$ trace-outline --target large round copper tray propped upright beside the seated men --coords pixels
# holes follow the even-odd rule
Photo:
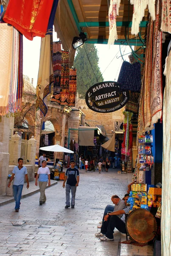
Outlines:
[[[126,229],[129,236],[137,242],[147,243],[154,238],[157,223],[154,216],[145,209],[132,211],[126,220]]]

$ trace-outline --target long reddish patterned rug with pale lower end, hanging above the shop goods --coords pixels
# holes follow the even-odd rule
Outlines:
[[[162,116],[163,87],[162,87],[162,32],[161,23],[161,0],[156,1],[156,20],[153,32],[153,68],[151,80],[151,125],[156,123]]]

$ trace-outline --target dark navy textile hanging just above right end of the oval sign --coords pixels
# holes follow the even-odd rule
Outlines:
[[[121,90],[131,90],[139,92],[141,89],[141,64],[135,62],[130,64],[128,61],[123,61],[121,70],[118,76],[118,83],[121,84]]]

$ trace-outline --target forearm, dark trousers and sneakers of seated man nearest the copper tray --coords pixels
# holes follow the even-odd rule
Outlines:
[[[101,232],[96,233],[95,236],[100,237],[102,241],[113,241],[113,230],[115,227],[121,233],[126,234],[125,213],[129,213],[130,208],[127,207],[123,210],[109,212],[104,216],[104,222],[101,227]],[[122,216],[123,215],[123,216]],[[120,217],[122,216],[122,218]]]

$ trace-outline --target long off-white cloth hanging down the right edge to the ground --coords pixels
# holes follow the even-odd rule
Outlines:
[[[162,242],[165,248],[165,255],[170,254],[170,230],[171,230],[171,205],[168,198],[171,195],[171,51],[165,60],[166,76],[165,90],[163,97],[163,166],[162,166]],[[166,239],[167,238],[167,239]],[[169,244],[169,246],[168,246]]]

